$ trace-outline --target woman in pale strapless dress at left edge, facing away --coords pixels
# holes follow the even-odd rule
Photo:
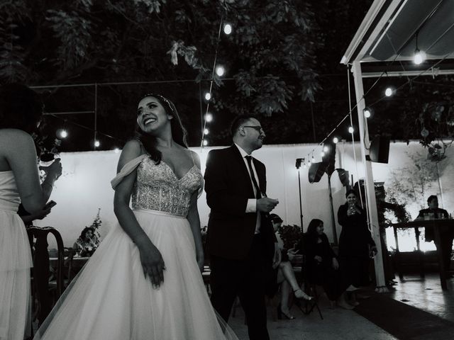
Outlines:
[[[48,166],[40,185],[33,138],[43,114],[38,94],[20,84],[0,88],[0,340],[23,340],[31,331],[31,250],[19,203],[31,214],[43,212],[59,161]]]

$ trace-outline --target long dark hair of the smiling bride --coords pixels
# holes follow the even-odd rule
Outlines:
[[[181,145],[182,147],[188,147],[187,146],[187,131],[182,125],[182,121],[179,119],[179,115],[177,112],[177,108],[175,108],[174,103],[172,101],[168,100],[164,96],[161,96],[160,94],[145,94],[142,98],[140,98],[140,101],[143,98],[147,97],[153,97],[156,98],[157,101],[162,105],[162,107],[165,109],[165,113],[168,115],[172,115],[173,119],[170,120],[170,128],[172,130],[172,139],[174,142],[177,142],[177,144]],[[156,164],[160,164],[161,159],[162,159],[162,154],[161,152],[156,148],[156,138],[152,135],[148,135],[148,133],[143,132],[142,129],[140,129],[140,126],[137,124],[135,128],[135,138],[142,143],[143,147],[145,148],[146,152],[150,154],[151,159]]]

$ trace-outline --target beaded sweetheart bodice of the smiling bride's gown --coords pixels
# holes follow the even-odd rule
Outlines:
[[[202,186],[203,177],[197,166],[192,166],[178,179],[165,162],[155,164],[150,157],[145,157],[137,167],[132,207],[186,217],[192,194]]]

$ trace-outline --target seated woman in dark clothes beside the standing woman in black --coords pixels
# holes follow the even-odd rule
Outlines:
[[[323,232],[323,221],[311,220],[301,250],[306,256],[305,270],[309,282],[323,287],[332,307],[337,302],[340,307],[352,309],[353,306],[345,301],[344,295],[349,283],[339,269],[336,254]]]

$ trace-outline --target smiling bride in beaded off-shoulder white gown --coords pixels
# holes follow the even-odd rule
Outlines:
[[[35,339],[237,339],[218,322],[201,278],[203,178],[177,110],[146,95],[137,123],[138,138],[126,143],[111,181],[119,224]]]

